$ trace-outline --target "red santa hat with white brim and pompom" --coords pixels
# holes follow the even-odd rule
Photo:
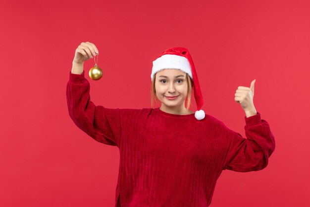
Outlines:
[[[180,69],[183,72],[189,74],[193,80],[194,96],[197,104],[197,111],[195,112],[195,118],[202,120],[205,118],[205,112],[201,109],[204,100],[200,90],[198,76],[194,66],[194,62],[190,55],[190,52],[186,48],[175,47],[170,48],[162,52],[155,61],[153,61],[153,68],[151,73],[151,80],[153,81],[156,72],[162,69]]]

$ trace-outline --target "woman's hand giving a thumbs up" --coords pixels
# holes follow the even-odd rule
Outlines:
[[[256,79],[252,80],[250,87],[238,86],[235,93],[235,101],[240,103],[245,112],[252,112],[252,114],[257,113],[253,103],[255,81]]]

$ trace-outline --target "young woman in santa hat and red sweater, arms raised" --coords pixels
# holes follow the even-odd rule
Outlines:
[[[208,207],[223,170],[267,166],[275,139],[254,107],[254,81],[235,94],[246,113],[243,138],[201,110],[198,76],[186,48],[170,48],[153,61],[152,108],[143,109],[110,109],[91,101],[83,63],[96,55],[93,43],[78,46],[66,95],[76,126],[119,148],[115,207]],[[192,89],[196,112],[189,110]],[[154,98],[160,108],[153,108]]]

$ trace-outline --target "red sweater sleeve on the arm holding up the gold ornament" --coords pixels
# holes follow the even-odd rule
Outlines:
[[[69,72],[66,97],[69,116],[75,125],[95,140],[117,146],[120,120],[119,109],[96,106],[90,98],[90,83],[81,74]]]

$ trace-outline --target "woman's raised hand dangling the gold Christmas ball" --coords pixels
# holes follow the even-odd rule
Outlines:
[[[83,64],[84,61],[99,55],[99,51],[95,44],[91,42],[82,42],[75,50],[73,64]]]

